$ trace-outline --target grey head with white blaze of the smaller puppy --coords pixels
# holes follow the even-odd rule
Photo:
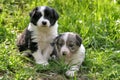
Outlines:
[[[78,34],[66,32],[56,37],[54,42],[57,53],[60,57],[71,57],[78,51],[81,46],[82,39]]]

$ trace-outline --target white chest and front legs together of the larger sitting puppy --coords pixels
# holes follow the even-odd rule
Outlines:
[[[53,51],[53,47],[50,43],[58,35],[57,27],[57,22],[51,27],[39,27],[34,26],[32,23],[29,24],[28,30],[32,32],[32,42],[36,42],[38,44],[37,51],[32,54],[37,64],[48,64],[48,59]]]

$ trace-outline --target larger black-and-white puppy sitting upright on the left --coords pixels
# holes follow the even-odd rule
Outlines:
[[[58,35],[58,13],[50,7],[40,6],[30,12],[30,23],[17,40],[19,51],[30,50],[37,64],[47,65]]]

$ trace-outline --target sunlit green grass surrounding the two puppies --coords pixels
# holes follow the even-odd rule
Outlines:
[[[115,2],[116,1],[116,2]],[[83,38],[86,58],[74,78],[67,66],[50,61],[36,65],[16,49],[16,36],[29,23],[29,12],[47,5],[59,13],[59,33],[76,32]],[[2,80],[120,80],[119,0],[0,0],[0,79]]]

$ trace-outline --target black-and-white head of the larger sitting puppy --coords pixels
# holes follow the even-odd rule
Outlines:
[[[51,27],[58,18],[58,13],[47,6],[36,7],[30,12],[30,22],[38,27]]]

